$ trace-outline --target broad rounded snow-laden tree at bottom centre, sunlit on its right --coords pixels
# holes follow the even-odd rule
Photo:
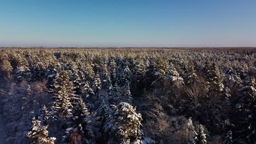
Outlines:
[[[113,112],[107,117],[104,131],[109,135],[108,143],[132,143],[141,139],[140,113],[128,103],[112,105]]]

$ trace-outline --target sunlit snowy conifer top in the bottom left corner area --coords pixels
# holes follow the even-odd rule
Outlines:
[[[31,131],[27,133],[27,137],[32,144],[54,144],[55,137],[48,136],[48,125],[41,126],[40,121],[33,117]]]

